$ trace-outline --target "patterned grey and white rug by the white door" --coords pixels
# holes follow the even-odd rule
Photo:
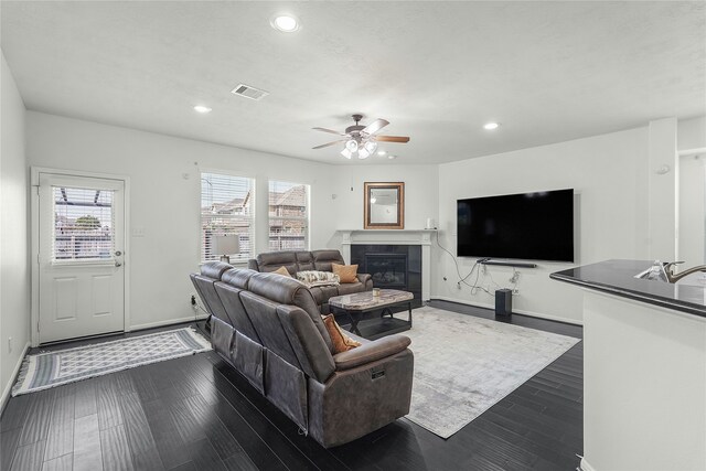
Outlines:
[[[12,396],[212,350],[192,328],[28,355]]]

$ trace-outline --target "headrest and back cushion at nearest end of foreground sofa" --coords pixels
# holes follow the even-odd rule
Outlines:
[[[319,314],[319,306],[309,288],[293,278],[285,278],[281,275],[255,274],[250,277],[248,289],[279,304],[293,304],[303,309],[313,321],[329,351],[333,353],[331,336],[323,325],[321,314]]]

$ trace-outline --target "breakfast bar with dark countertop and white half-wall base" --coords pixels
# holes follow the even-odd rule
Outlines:
[[[706,286],[652,264],[550,275],[584,290],[584,470],[706,470]]]

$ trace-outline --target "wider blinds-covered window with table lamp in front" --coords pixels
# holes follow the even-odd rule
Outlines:
[[[255,181],[222,173],[201,174],[201,261],[228,255],[231,264],[253,258]],[[218,254],[220,236],[237,237],[237,254]]]

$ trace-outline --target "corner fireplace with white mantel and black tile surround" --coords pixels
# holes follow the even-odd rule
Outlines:
[[[375,287],[415,295],[415,307],[430,298],[434,231],[341,231],[343,258],[374,275]],[[373,274],[373,271],[375,274]]]

